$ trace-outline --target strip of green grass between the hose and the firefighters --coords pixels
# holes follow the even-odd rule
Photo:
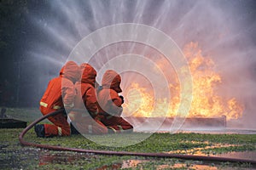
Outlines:
[[[108,134],[95,135],[94,140],[104,143],[124,143],[129,139],[139,139],[143,133],[131,134]],[[124,150],[137,152],[164,152],[175,150],[190,150],[193,148],[204,148],[212,144],[241,144],[241,146],[225,147],[223,152],[234,151],[234,149],[255,150],[256,135],[252,134],[199,134],[199,133],[154,133],[148,139],[143,140],[138,144],[132,144],[125,147],[110,147],[102,144],[97,144],[90,139],[85,139],[82,135],[61,138],[40,139],[33,132],[26,135],[26,140],[36,142],[38,144],[53,144],[65,147],[90,149],[90,150]],[[195,143],[196,142],[196,143]],[[207,143],[208,144],[207,144]],[[124,144],[127,145],[127,144]],[[207,149],[206,149],[207,150]],[[219,151],[211,149],[212,151]]]

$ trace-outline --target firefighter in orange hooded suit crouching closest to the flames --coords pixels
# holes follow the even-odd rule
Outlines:
[[[113,70],[108,70],[102,77],[102,89],[97,93],[99,119],[114,133],[132,132],[133,127],[121,117],[124,103],[120,88],[121,77]]]

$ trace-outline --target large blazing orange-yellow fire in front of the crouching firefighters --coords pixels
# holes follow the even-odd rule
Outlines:
[[[190,42],[183,48],[183,54],[189,62],[193,77],[193,99],[188,117],[226,116],[227,120],[241,117],[243,106],[235,98],[227,99],[215,90],[222,83],[221,76],[213,70],[214,62],[202,56],[198,43]],[[162,69],[162,63],[159,63]],[[174,78],[177,79],[177,78]],[[170,83],[172,93],[170,102],[167,99],[154,99],[153,94],[140,87],[139,83],[131,83],[125,94],[124,113],[126,116],[176,116],[180,104],[180,84],[177,80]],[[155,105],[155,103],[157,105]],[[167,112],[164,111],[167,108]]]

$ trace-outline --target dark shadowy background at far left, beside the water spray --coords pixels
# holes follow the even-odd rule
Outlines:
[[[40,70],[38,66],[44,67],[44,63],[29,59],[26,49],[32,48],[35,41],[47,40],[28,16],[38,15],[44,19],[50,14],[48,1],[0,1],[0,106],[38,106],[44,93],[44,89],[39,88],[42,86],[38,86],[42,78],[44,80],[40,74],[44,69]],[[59,68],[48,66],[48,72],[55,71],[57,76]],[[44,88],[47,81],[43,82]]]

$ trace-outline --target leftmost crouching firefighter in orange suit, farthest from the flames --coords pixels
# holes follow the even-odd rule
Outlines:
[[[74,83],[80,78],[79,65],[73,61],[68,61],[61,68],[60,76],[52,79],[40,100],[40,111],[43,115],[57,111],[65,107],[66,111],[73,108],[73,99],[75,96]],[[48,117],[53,124],[38,124],[35,126],[35,132],[38,137],[68,136],[70,135],[70,126],[67,122],[65,111]]]

